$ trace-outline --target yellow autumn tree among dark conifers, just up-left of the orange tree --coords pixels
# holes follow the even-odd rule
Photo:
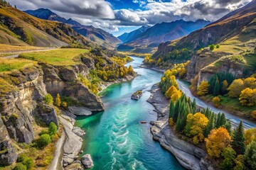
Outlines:
[[[203,141],[203,130],[208,125],[208,118],[202,113],[192,114],[189,113],[186,120],[186,135],[193,137],[193,143],[197,145]]]

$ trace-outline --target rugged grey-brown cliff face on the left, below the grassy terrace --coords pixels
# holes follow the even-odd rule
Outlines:
[[[38,63],[19,71],[0,74],[0,164],[16,162],[17,153],[14,143],[31,143],[35,132],[35,123],[58,125],[58,115],[53,106],[43,103],[50,93],[69,96],[91,111],[102,111],[99,97],[92,94],[86,86],[76,81],[78,74],[86,75],[89,69],[82,62],[70,67],[55,67]]]

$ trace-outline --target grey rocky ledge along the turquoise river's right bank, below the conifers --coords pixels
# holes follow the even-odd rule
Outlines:
[[[151,121],[151,133],[153,139],[160,142],[160,145],[169,150],[178,162],[186,169],[213,170],[210,163],[206,161],[206,152],[194,145],[178,139],[168,123],[169,101],[166,100],[159,89],[154,85],[151,89],[151,97],[147,100],[151,103],[157,113],[157,120]]]

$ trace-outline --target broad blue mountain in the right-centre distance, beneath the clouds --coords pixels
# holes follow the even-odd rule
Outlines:
[[[204,20],[198,20],[196,22],[178,20],[171,23],[157,23],[155,26],[147,28],[144,31],[135,30],[135,33],[141,32],[137,34],[135,38],[133,34],[131,34],[131,38],[129,35],[122,35],[123,37],[121,39],[127,40],[127,42],[119,45],[117,49],[151,52],[151,50],[157,47],[161,42],[181,38],[194,30],[203,28],[209,23],[209,21]]]

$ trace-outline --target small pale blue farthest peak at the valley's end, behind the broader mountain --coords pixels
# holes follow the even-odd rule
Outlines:
[[[130,42],[132,40],[135,40],[136,38],[139,38],[139,35],[144,33],[150,26],[142,26],[141,28],[132,31],[131,33],[124,33],[120,35],[118,38],[122,42]]]

